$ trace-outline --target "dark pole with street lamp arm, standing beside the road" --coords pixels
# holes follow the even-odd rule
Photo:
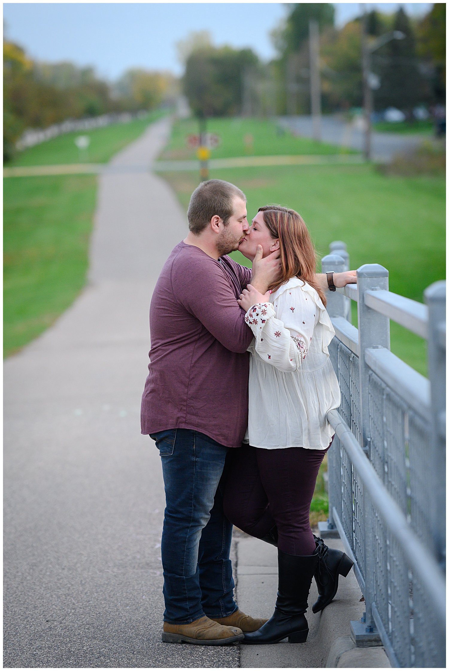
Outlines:
[[[405,34],[401,30],[391,30],[369,44],[367,39],[368,15],[363,5],[362,21],[362,67],[363,67],[363,109],[365,111],[365,148],[363,154],[367,161],[371,160],[371,113],[373,112],[373,90],[379,89],[380,81],[371,72],[371,54],[391,40],[403,40]]]

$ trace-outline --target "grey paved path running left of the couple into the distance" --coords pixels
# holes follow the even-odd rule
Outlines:
[[[237,646],[160,641],[159,455],[140,435],[148,307],[184,238],[184,212],[151,163],[167,120],[99,180],[88,286],[5,361],[5,667],[239,666]]]

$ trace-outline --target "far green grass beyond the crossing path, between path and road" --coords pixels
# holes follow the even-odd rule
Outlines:
[[[283,131],[273,121],[264,119],[208,119],[207,130],[221,138],[221,144],[212,150],[212,158],[235,156],[277,156],[291,154],[338,154],[340,148],[299,138]],[[186,138],[198,134],[195,119],[183,119],[174,125],[172,138],[159,158],[164,160],[192,159],[196,150],[186,146]],[[245,146],[245,136],[253,136],[253,146]],[[344,150],[348,153],[348,150]],[[350,153],[353,153],[352,150]]]

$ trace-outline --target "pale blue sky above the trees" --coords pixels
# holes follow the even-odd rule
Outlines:
[[[422,15],[432,3],[402,3]],[[335,3],[339,25],[360,3]],[[393,12],[398,3],[369,3]],[[108,79],[133,66],[182,72],[175,44],[192,30],[208,30],[215,44],[250,46],[275,56],[269,32],[285,16],[283,3],[5,3],[7,38],[37,60],[92,65]]]

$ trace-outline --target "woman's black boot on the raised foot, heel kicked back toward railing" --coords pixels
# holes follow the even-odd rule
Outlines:
[[[334,599],[338,590],[338,576],[346,578],[354,562],[342,550],[328,548],[322,538],[314,535],[314,539],[319,562],[314,573],[318,599],[312,606],[312,613],[318,613]],[[277,548],[277,527],[272,527],[261,540]]]

